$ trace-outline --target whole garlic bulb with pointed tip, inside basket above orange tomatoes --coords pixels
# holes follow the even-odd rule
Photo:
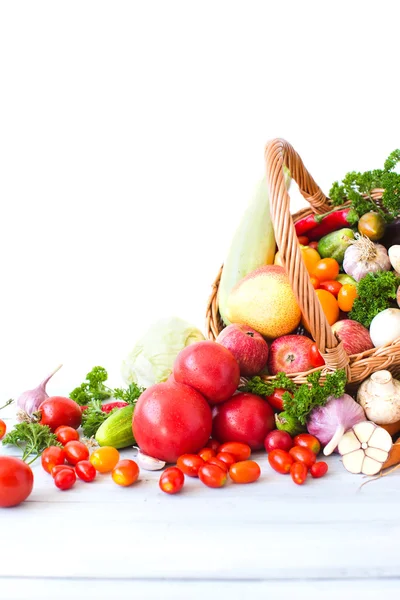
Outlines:
[[[387,250],[382,244],[374,244],[365,235],[356,234],[356,240],[349,242],[344,253],[343,269],[356,281],[367,273],[390,271],[392,265]]]

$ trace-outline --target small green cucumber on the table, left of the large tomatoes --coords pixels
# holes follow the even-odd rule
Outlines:
[[[97,430],[95,440],[100,446],[127,448],[134,446],[135,438],[132,433],[132,417],[134,406],[120,408],[110,415]]]

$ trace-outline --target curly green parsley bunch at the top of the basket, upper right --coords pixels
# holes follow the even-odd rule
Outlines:
[[[383,169],[347,173],[342,182],[336,181],[329,192],[332,204],[341,205],[348,200],[361,217],[367,212],[379,212],[387,221],[393,221],[400,213],[400,174],[393,169],[400,162],[400,150],[394,150],[386,159]],[[383,188],[381,210],[371,198],[374,188]],[[364,197],[364,195],[366,197]]]

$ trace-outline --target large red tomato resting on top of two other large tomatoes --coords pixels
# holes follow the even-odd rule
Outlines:
[[[174,378],[200,392],[210,404],[218,404],[236,392],[240,368],[233,354],[221,344],[196,342],[178,354]]]

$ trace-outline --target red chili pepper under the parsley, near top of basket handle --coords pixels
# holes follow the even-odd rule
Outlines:
[[[319,240],[324,235],[341,227],[355,225],[358,214],[352,208],[335,208],[324,215],[308,215],[295,223],[297,235],[307,233],[309,240]]]

